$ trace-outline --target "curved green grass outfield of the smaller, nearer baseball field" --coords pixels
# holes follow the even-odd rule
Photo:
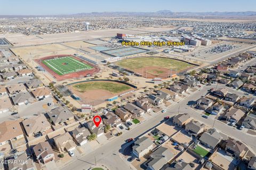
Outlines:
[[[107,81],[94,81],[79,83],[73,86],[79,92],[85,92],[88,90],[107,90],[113,94],[131,89],[130,86],[122,83],[107,82]]]

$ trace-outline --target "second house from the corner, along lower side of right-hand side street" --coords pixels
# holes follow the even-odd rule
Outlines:
[[[198,121],[191,120],[189,123],[186,124],[185,130],[188,132],[189,135],[197,137],[198,134],[204,131],[205,124],[202,124]]]

